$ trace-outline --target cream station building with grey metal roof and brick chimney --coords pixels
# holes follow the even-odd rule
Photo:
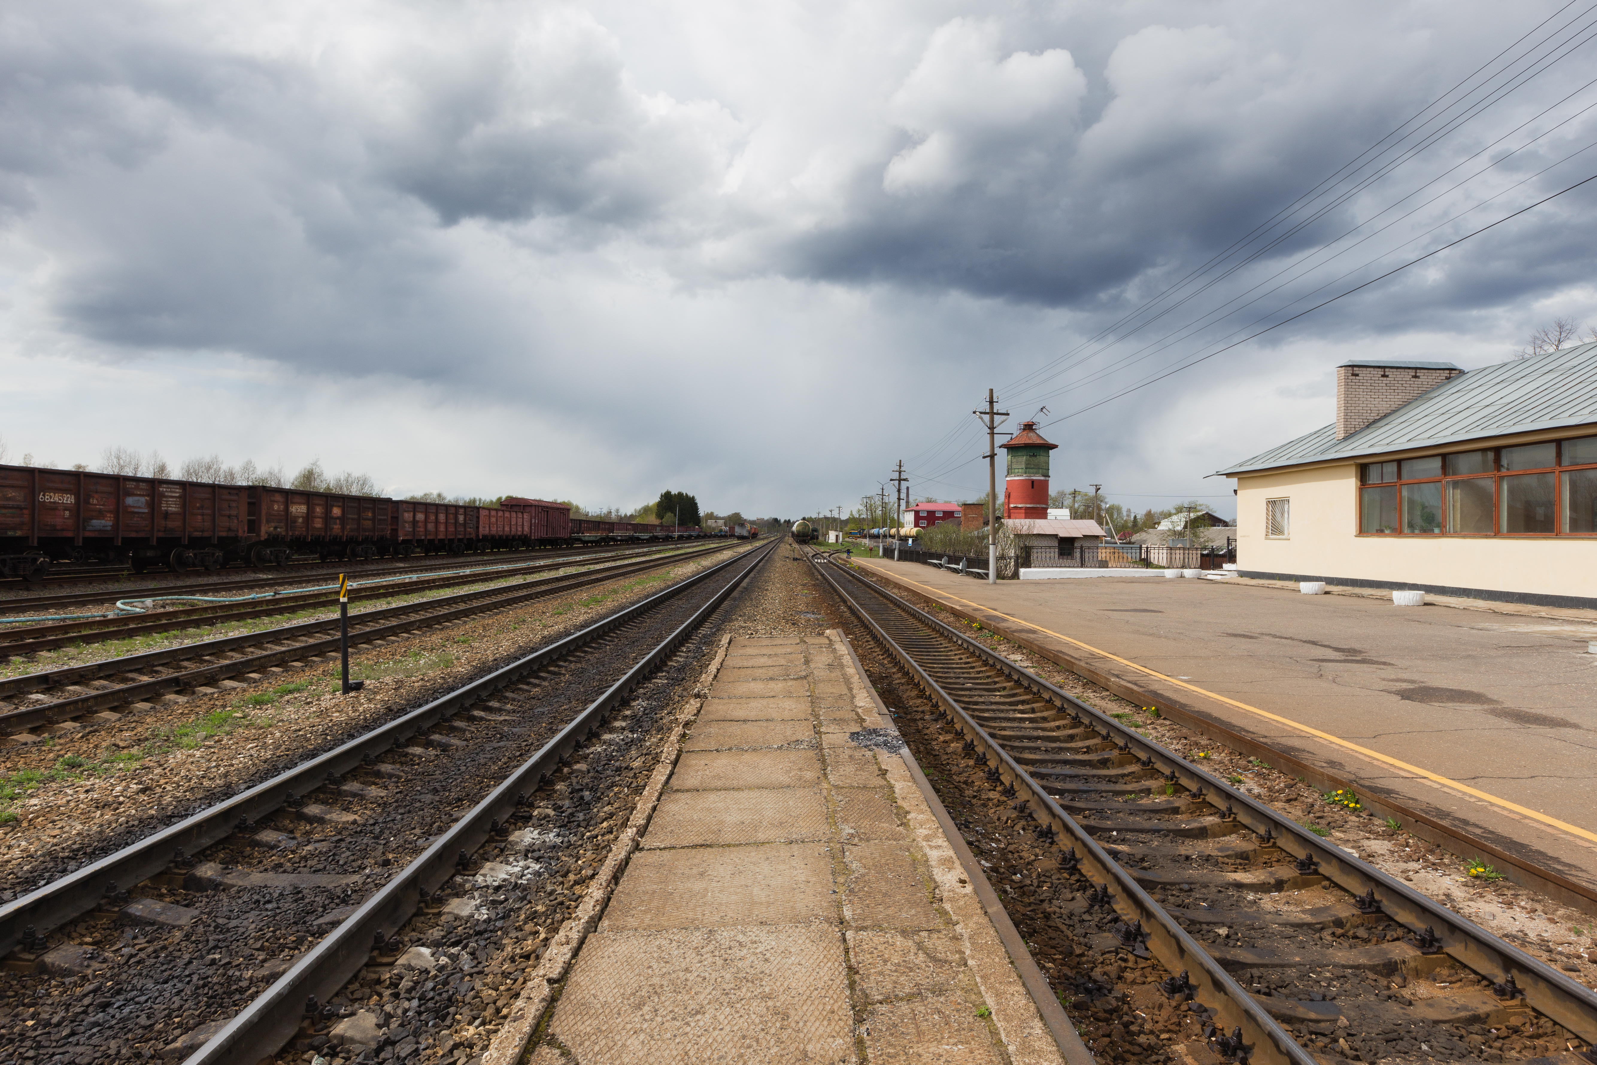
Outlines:
[[[1335,422],[1219,473],[1242,576],[1597,607],[1597,343],[1353,359]]]

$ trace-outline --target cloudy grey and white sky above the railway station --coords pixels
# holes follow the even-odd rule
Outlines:
[[[13,0],[0,437],[798,516],[997,388],[1230,513],[1337,362],[1597,324],[1594,182],[1161,377],[1597,174],[1583,11]]]

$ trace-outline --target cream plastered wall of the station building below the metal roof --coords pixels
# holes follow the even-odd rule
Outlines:
[[[1238,474],[1238,570],[1597,599],[1592,538],[1361,536],[1357,474],[1354,461]],[[1276,498],[1292,500],[1282,538],[1265,536],[1265,501]]]

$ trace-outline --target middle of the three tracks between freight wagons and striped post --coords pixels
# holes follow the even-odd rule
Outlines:
[[[441,588],[458,588],[462,584],[479,584],[482,581],[505,580],[509,576],[540,573],[543,570],[559,570],[573,564],[581,564],[585,559],[629,559],[640,557],[647,554],[660,554],[663,551],[682,551],[680,544],[668,548],[642,548],[632,551],[605,551],[596,556],[594,552],[573,552],[557,557],[538,557],[527,559],[524,562],[497,562],[484,564],[481,568],[473,567],[468,572],[462,572],[457,564],[454,567],[428,567],[428,570],[407,570],[406,567],[394,567],[393,572],[372,572],[363,570],[356,580],[351,581],[350,602],[363,602],[372,599],[388,599],[396,594],[409,594],[415,591],[436,591]],[[428,576],[428,572],[438,573],[436,576]],[[303,584],[299,581],[249,581],[248,584],[271,588],[273,584]],[[200,586],[204,588],[204,586]],[[147,599],[152,605],[158,604],[161,597],[169,596],[230,596],[241,589],[240,586],[232,586],[225,589],[209,588],[204,591],[171,591],[160,589],[150,591]],[[118,600],[134,600],[137,602],[142,592],[118,594]],[[260,592],[254,592],[260,594]],[[201,604],[196,607],[169,607],[149,610],[145,613],[129,613],[121,616],[89,616],[81,621],[46,621],[38,624],[8,624],[0,628],[0,655],[29,655],[34,651],[54,650],[57,647],[81,645],[81,643],[101,643],[105,640],[121,640],[134,635],[147,635],[152,632],[169,632],[172,629],[195,628],[195,624],[228,624],[235,621],[248,621],[251,618],[268,618],[279,613],[287,613],[292,610],[315,608],[315,607],[332,607],[339,602],[337,591],[315,591],[315,592],[284,592],[283,597],[273,596],[270,599],[254,599],[251,602],[233,602],[233,604]]]

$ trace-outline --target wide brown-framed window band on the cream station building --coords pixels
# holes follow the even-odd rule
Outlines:
[[[1597,436],[1364,463],[1359,532],[1597,535]]]

